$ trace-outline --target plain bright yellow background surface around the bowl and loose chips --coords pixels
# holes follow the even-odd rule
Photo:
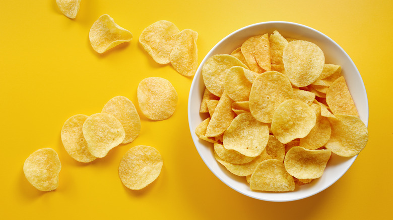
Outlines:
[[[0,213],[11,218],[168,219],[363,219],[391,211],[391,1],[122,1],[82,0],[71,20],[55,0],[0,2]],[[103,55],[90,46],[91,25],[109,14],[134,39]],[[141,32],[158,20],[199,33],[199,62],[223,37],[250,24],[296,22],[336,41],[353,59],[367,89],[369,141],[349,171],[312,197],[266,202],[246,197],[217,179],[193,146],[187,121],[192,78],[159,65],[138,44]],[[179,94],[175,114],[152,122],[138,107],[138,83],[150,76],[172,82]],[[113,96],[132,100],[142,132],[130,144],[89,164],[63,149],[60,130],[73,115],[101,112]],[[122,155],[136,145],[157,148],[164,160],[147,188],[125,188],[117,172]],[[35,150],[57,151],[59,187],[40,192],[24,174]]]

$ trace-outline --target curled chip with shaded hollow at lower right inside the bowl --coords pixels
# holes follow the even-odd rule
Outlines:
[[[316,179],[322,176],[332,152],[293,147],[285,155],[285,169],[298,179]]]

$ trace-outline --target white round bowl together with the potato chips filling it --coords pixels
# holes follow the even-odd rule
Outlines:
[[[222,182],[252,198],[293,201],[351,167],[367,144],[368,100],[354,62],[331,38],[263,22],[206,55],[191,84],[188,122]]]

